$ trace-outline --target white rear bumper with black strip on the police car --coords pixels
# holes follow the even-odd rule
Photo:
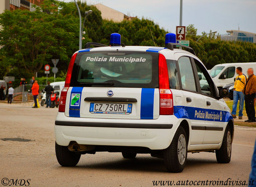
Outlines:
[[[87,145],[135,146],[151,150],[169,147],[179,124],[174,115],[158,119],[72,118],[58,112],[55,121],[56,142],[68,146],[70,141]]]

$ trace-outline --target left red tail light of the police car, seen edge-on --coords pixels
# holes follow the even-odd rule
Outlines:
[[[65,106],[66,106],[66,99],[67,99],[67,91],[70,87],[70,81],[71,81],[71,75],[72,75],[72,71],[73,71],[73,66],[76,60],[76,55],[77,53],[75,53],[71,60],[70,60],[70,64],[68,66],[67,69],[67,76],[66,76],[66,81],[65,81],[65,86],[61,91],[61,99],[60,99],[60,104],[59,104],[59,112],[65,112]]]

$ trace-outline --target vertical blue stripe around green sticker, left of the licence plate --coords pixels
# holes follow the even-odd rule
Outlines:
[[[82,95],[82,90],[83,87],[73,87],[71,90],[71,95],[70,95],[70,106],[69,106],[69,116],[70,117],[77,117],[80,118],[80,106],[81,106],[81,95]],[[71,100],[72,100],[72,95],[75,94],[79,94],[79,103],[77,104],[77,106],[74,106],[71,104]]]

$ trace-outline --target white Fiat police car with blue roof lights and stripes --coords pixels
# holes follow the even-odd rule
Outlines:
[[[215,152],[228,163],[234,135],[230,109],[204,64],[176,46],[121,45],[75,52],[61,92],[55,121],[59,164],[75,166],[81,154],[122,152],[124,158],[150,153],[163,158],[167,171],[181,172],[187,152]],[[204,84],[201,85],[200,80]]]

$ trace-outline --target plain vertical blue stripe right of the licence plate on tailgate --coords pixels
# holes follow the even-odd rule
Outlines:
[[[154,88],[141,89],[140,119],[153,119]]]

